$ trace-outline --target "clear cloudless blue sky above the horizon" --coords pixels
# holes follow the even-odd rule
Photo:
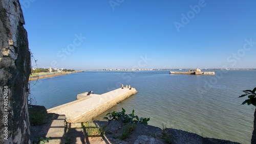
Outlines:
[[[38,67],[256,68],[253,0],[20,4]]]

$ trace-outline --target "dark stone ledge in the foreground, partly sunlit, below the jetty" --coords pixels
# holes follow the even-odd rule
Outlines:
[[[238,143],[202,137],[195,133],[172,128],[123,124],[120,121],[92,121],[71,124],[63,119],[63,121],[57,121],[60,122],[60,124],[57,124],[58,127],[63,125],[62,129],[53,131],[51,134],[53,136],[49,136],[48,131],[51,127],[55,127],[53,122],[58,117],[58,114],[47,113],[46,108],[43,106],[30,106],[29,112],[30,117],[36,114],[39,115],[39,119],[45,118],[45,121],[40,125],[31,126],[31,139],[34,142],[48,140],[49,143],[56,143],[56,137],[53,136],[61,133],[63,136],[57,137],[61,141],[60,143]],[[32,124],[35,123],[33,122]]]

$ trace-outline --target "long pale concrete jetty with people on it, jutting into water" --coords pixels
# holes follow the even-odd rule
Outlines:
[[[121,88],[103,94],[90,94],[90,96],[84,95],[82,97],[85,93],[81,93],[80,95],[78,94],[79,97],[77,96],[78,100],[47,111],[48,113],[65,114],[66,121],[69,123],[88,122],[137,92],[135,88],[127,85],[123,87],[122,85]]]

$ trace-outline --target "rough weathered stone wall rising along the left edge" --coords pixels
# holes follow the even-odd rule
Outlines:
[[[1,0],[0,143],[31,143],[28,115],[30,52],[24,24],[18,0]]]

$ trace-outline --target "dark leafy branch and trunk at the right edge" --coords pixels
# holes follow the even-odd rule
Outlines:
[[[239,98],[245,97],[248,95],[248,99],[245,100],[242,105],[246,104],[256,106],[256,87],[253,90],[243,90],[245,94],[242,94]],[[254,110],[254,121],[253,121],[253,132],[251,137],[251,143],[256,143],[256,109]]]

